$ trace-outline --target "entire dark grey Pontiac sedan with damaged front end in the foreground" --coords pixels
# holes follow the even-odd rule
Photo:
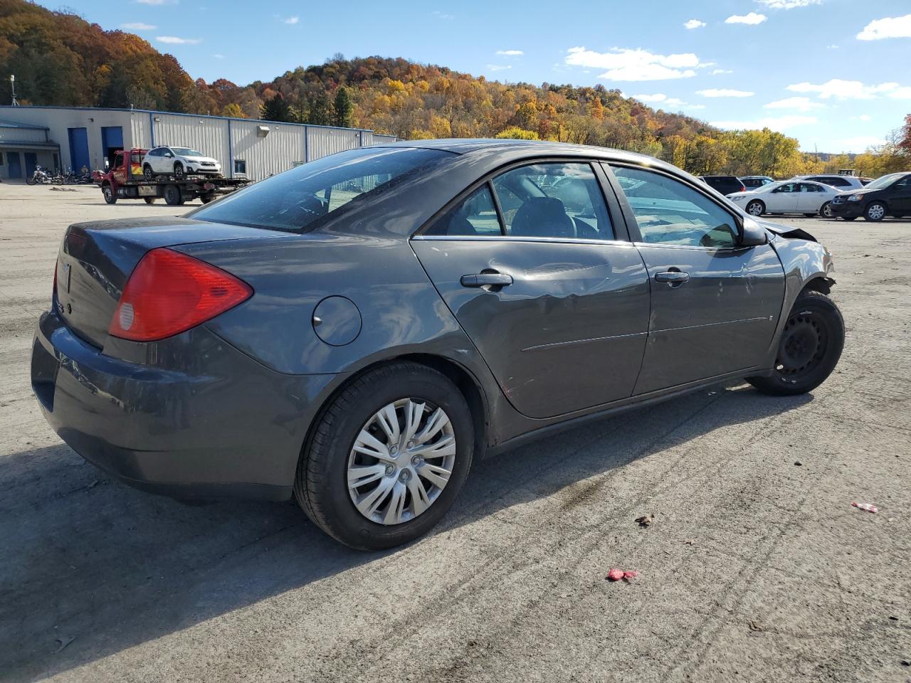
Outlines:
[[[844,342],[832,271],[653,158],[395,143],[71,226],[32,383],[128,484],[293,495],[378,549],[433,527],[483,454],[715,382],[813,390]]]

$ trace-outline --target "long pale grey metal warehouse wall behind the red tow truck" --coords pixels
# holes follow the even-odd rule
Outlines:
[[[50,128],[48,138],[59,143],[64,166],[69,159],[68,127],[87,128],[92,168],[103,168],[101,127],[119,126],[123,128],[125,147],[179,145],[196,148],[217,158],[226,176],[234,174],[237,160],[246,168],[247,177],[254,180],[345,149],[396,139],[358,128],[304,126],[139,109],[0,107],[0,118]]]

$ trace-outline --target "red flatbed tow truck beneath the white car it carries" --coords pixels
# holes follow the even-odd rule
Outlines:
[[[147,152],[148,149],[138,148],[117,151],[114,166],[98,178],[108,204],[116,204],[118,199],[143,199],[147,204],[153,204],[159,197],[171,206],[193,199],[208,204],[251,182],[247,178],[222,178],[220,175],[188,175],[179,179],[173,175],[159,175],[147,180],[142,176],[142,158]]]

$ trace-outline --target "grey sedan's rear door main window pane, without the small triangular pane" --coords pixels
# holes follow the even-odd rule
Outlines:
[[[493,179],[511,237],[613,240],[598,178],[587,163],[542,163]]]

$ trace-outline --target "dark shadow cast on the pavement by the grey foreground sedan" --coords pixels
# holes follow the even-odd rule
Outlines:
[[[437,533],[808,401],[718,387],[550,436],[477,462]],[[66,671],[388,555],[338,545],[292,503],[141,493],[62,444],[0,458],[0,519],[6,680]]]

